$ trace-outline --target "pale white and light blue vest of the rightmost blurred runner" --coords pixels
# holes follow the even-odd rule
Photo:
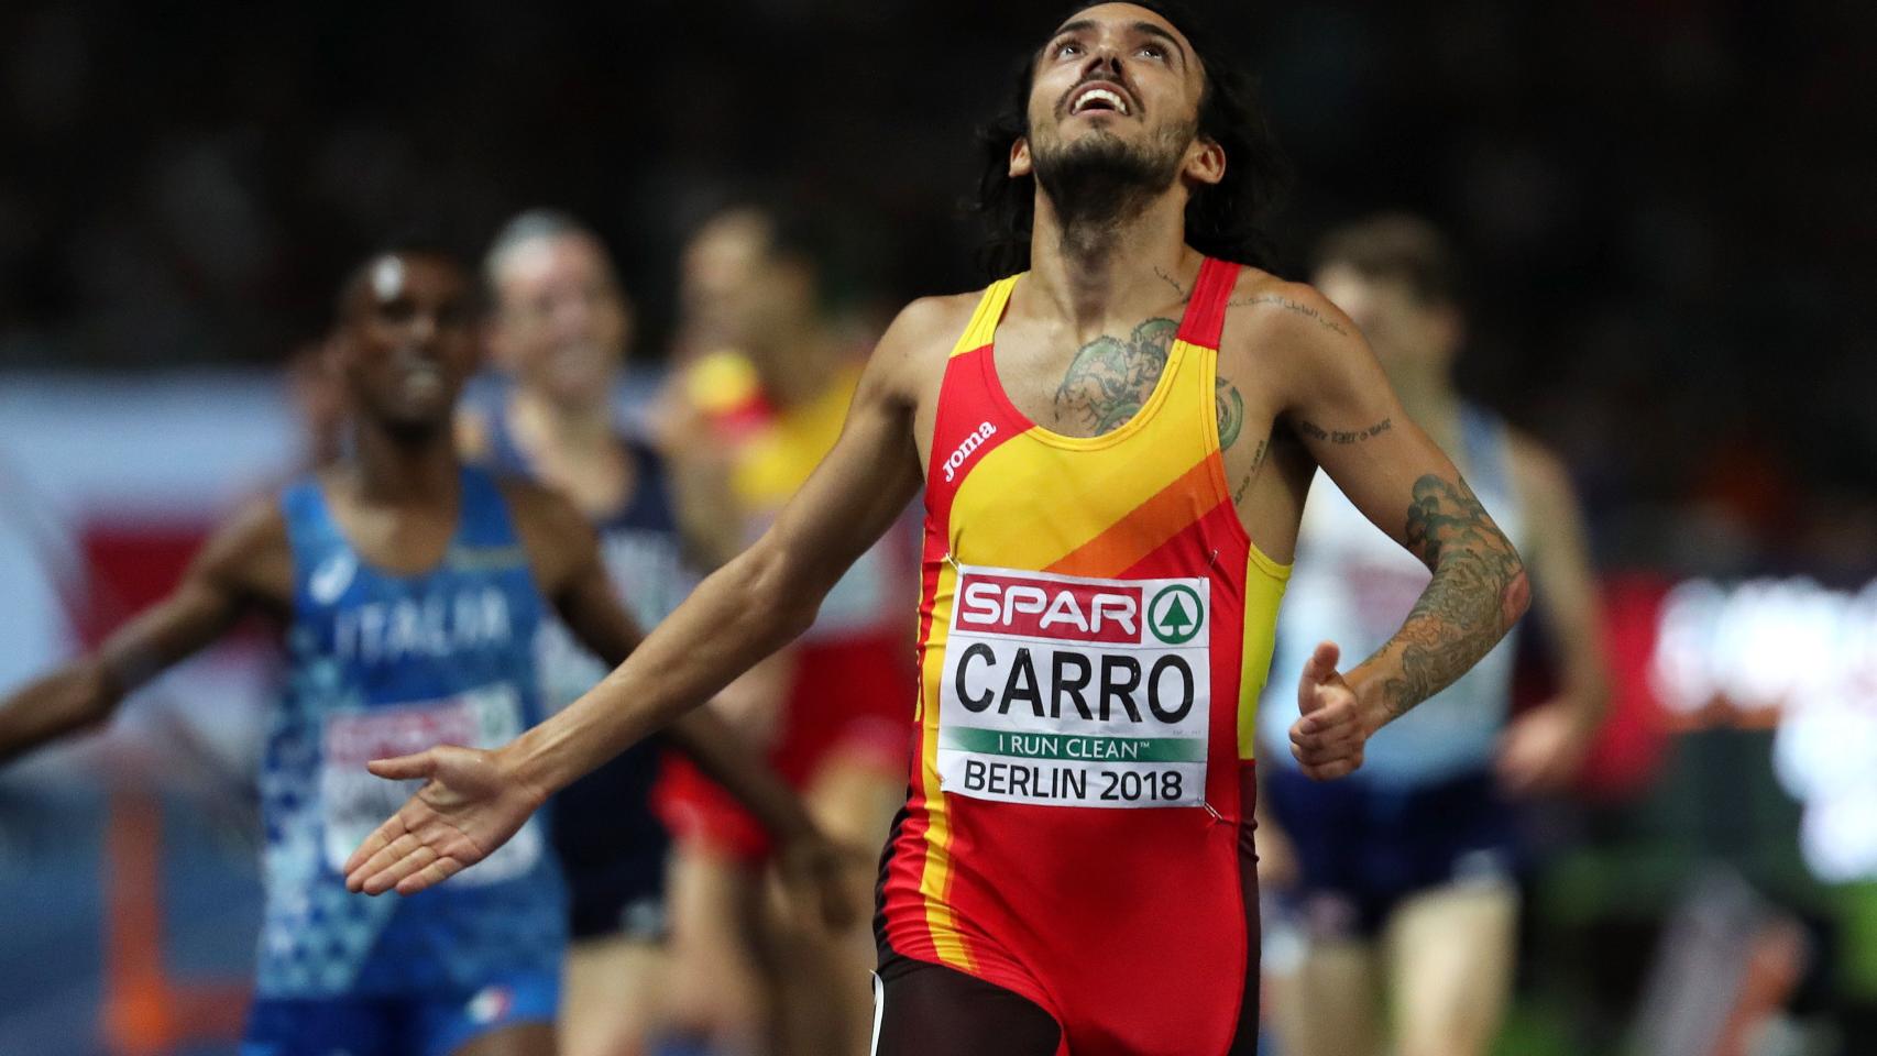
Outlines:
[[[1513,546],[1524,546],[1524,518],[1513,482],[1505,424],[1477,407],[1460,409],[1462,450],[1453,452]],[[1344,670],[1381,647],[1408,617],[1428,570],[1383,535],[1323,473],[1310,484],[1297,563],[1278,613],[1271,679],[1258,707],[1265,752],[1259,760],[1297,765],[1289,728],[1297,722],[1297,679],[1320,641],[1342,647]],[[1363,778],[1385,786],[1427,786],[1492,765],[1511,709],[1517,630],[1473,670],[1408,715],[1389,722],[1363,750]]]

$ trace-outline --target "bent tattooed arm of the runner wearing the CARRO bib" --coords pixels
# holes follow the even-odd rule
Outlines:
[[[1479,662],[1528,604],[1524,565],[1453,461],[1408,420],[1355,324],[1321,294],[1291,287],[1310,317],[1267,313],[1263,339],[1284,349],[1284,420],[1344,495],[1432,570],[1402,628],[1372,656],[1338,670],[1318,647],[1297,686],[1291,750],[1316,778],[1351,773],[1385,722]]]

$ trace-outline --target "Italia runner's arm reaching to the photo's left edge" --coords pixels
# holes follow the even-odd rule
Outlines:
[[[60,737],[101,726],[131,690],[221,636],[265,600],[268,580],[285,578],[291,557],[274,503],[255,505],[225,525],[190,565],[167,598],[137,613],[105,643],[0,701],[0,765]]]

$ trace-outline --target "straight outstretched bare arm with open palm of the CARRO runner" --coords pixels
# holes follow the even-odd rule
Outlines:
[[[923,347],[923,326],[908,321],[914,315],[901,313],[880,339],[841,439],[775,525],[706,578],[591,692],[490,754],[484,788],[499,790],[499,808],[469,803],[452,805],[452,816],[405,818],[413,810],[407,807],[353,855],[353,889],[411,893],[473,865],[509,838],[533,805],[670,726],[807,630],[841,572],[918,491],[907,375],[910,356]],[[392,775],[377,763],[374,773],[420,777]]]

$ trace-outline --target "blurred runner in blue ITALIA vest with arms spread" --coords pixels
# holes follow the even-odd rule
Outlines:
[[[359,897],[338,868],[398,799],[368,762],[496,747],[541,720],[533,632],[548,606],[612,662],[638,643],[580,514],[458,463],[450,409],[475,360],[471,326],[469,285],[447,255],[364,263],[330,351],[351,450],[235,516],[98,655],[0,703],[4,762],[103,722],[246,613],[282,625],[291,675],[261,767],[267,904],[244,1045],[255,1056],[554,1052],[567,904],[539,822],[407,902]],[[734,739],[708,717],[672,733],[790,837],[803,876],[835,874],[800,803]]]

